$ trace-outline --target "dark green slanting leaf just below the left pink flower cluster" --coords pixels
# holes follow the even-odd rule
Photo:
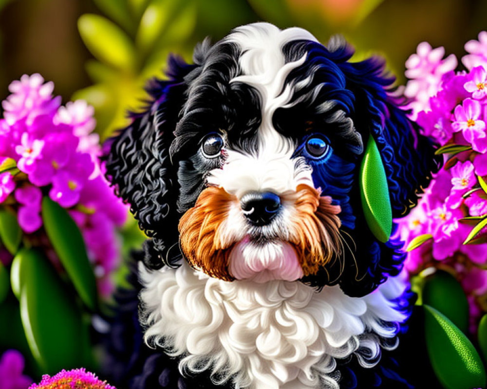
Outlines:
[[[96,306],[96,282],[81,232],[69,213],[49,197],[42,199],[42,221],[59,260],[81,300]]]

